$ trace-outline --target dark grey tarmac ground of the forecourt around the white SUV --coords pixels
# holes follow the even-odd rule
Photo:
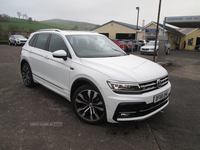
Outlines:
[[[0,45],[0,150],[200,149],[200,52],[172,50],[167,56],[172,92],[158,114],[140,122],[88,125],[63,97],[41,85],[23,85],[20,51]]]

